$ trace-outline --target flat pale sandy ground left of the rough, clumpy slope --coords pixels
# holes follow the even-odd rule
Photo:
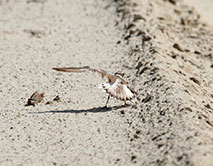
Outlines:
[[[130,162],[128,124],[119,110],[100,108],[107,99],[97,88],[102,79],[51,69],[119,68],[113,63],[125,48],[116,44],[120,32],[107,5],[94,0],[1,4],[0,165],[111,165],[121,157],[121,163]],[[45,92],[44,103],[25,107],[34,91]],[[57,95],[62,102],[45,105]]]

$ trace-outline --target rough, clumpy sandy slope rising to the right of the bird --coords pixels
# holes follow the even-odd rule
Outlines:
[[[119,1],[131,45],[127,67],[142,92],[128,112],[137,165],[213,163],[213,32],[182,1]],[[134,147],[134,148],[133,148]]]

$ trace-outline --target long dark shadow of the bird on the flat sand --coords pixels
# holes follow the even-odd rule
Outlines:
[[[79,110],[51,110],[51,111],[42,111],[42,112],[30,112],[31,114],[46,114],[46,113],[74,113],[74,114],[80,114],[80,113],[100,113],[100,112],[109,112],[112,110],[118,110],[121,108],[130,107],[131,105],[120,105],[120,106],[113,106],[113,107],[94,107],[90,109],[79,109]]]

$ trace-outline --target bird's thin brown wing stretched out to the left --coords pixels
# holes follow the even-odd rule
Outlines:
[[[62,67],[62,68],[52,68],[53,70],[63,71],[63,72],[85,72],[92,71],[101,74],[101,77],[104,78],[107,73],[104,70],[97,70],[94,68],[90,68],[89,66],[84,67]]]

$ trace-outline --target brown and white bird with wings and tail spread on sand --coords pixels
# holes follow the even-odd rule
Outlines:
[[[104,107],[107,108],[110,97],[114,97],[118,100],[124,101],[125,105],[127,102],[136,104],[138,102],[138,93],[128,86],[128,83],[123,79],[124,73],[117,71],[114,74],[109,74],[102,69],[91,68],[90,66],[83,67],[62,67],[62,68],[52,68],[56,71],[62,72],[87,72],[91,71],[93,73],[99,73],[105,83],[99,84],[104,92],[108,94],[108,98]]]

